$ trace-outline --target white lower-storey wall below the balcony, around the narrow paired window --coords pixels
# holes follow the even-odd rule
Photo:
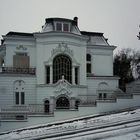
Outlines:
[[[17,80],[25,82],[25,104],[36,103],[36,78],[34,76],[5,76],[0,75],[0,107],[15,105],[15,93],[13,83]]]

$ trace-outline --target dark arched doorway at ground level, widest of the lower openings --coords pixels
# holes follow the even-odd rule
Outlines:
[[[56,100],[56,109],[69,109],[70,108],[70,103],[68,98],[66,97],[59,97]]]

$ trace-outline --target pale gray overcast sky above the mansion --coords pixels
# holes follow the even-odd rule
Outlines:
[[[45,18],[75,16],[80,30],[103,32],[118,49],[140,50],[140,0],[0,0],[0,35],[38,32]]]

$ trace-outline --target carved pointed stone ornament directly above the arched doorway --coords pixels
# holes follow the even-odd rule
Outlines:
[[[56,83],[56,87],[55,87],[55,93],[57,95],[61,95],[61,94],[66,94],[66,95],[70,95],[72,93],[72,91],[70,90],[70,84],[67,82],[67,80],[64,79],[64,76],[62,76],[62,79],[59,80]]]

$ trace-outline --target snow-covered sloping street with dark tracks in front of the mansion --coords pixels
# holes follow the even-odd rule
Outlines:
[[[30,127],[0,135],[0,140],[26,139],[69,140],[138,140],[140,139],[140,109],[86,118],[52,126]]]

